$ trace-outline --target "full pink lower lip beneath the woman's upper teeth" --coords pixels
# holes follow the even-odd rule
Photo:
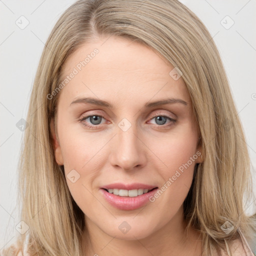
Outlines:
[[[142,207],[144,204],[149,202],[149,197],[153,196],[157,189],[158,188],[156,187],[150,192],[134,197],[120,196],[113,193],[108,193],[103,188],[100,188],[99,190],[102,192],[104,198],[115,208],[118,208],[120,210],[134,210]]]

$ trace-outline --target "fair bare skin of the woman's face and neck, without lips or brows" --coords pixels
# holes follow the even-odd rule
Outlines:
[[[195,163],[203,160],[200,157],[144,207],[116,209],[99,191],[113,182],[161,187],[201,150],[191,99],[182,77],[174,80],[169,75],[173,66],[138,42],[115,36],[106,39],[82,44],[66,60],[63,77],[94,48],[99,50],[61,89],[57,135],[53,132],[56,162],[64,165],[65,175],[72,169],[80,175],[74,183],[68,178],[66,182],[84,212],[84,255],[200,255],[201,236],[191,228],[188,236],[185,234],[182,208]],[[78,97],[95,97],[113,107],[71,104]],[[182,99],[187,104],[143,107],[148,101],[165,98]],[[156,117],[162,114],[176,121],[166,118],[159,124]],[[90,118],[79,121],[89,115],[103,116],[100,124]],[[131,124],[127,131],[118,126],[122,118]],[[127,233],[118,228],[123,221],[130,226]]]

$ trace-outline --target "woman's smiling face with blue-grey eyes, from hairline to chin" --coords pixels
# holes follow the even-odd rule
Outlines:
[[[62,69],[55,159],[89,230],[142,239],[182,219],[200,162],[196,120],[173,66],[138,42],[105,40]]]

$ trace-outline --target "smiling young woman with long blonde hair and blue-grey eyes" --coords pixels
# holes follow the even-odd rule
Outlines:
[[[71,5],[27,122],[29,229],[4,255],[253,255],[242,127],[217,48],[180,2]]]

